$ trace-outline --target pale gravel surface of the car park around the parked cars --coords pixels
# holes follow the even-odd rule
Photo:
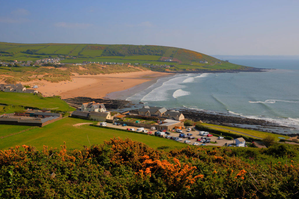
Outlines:
[[[120,128],[120,129],[127,129],[127,128],[135,128],[137,130],[138,127],[135,127],[135,126],[121,126],[121,125],[113,125],[112,123],[107,123],[107,126],[109,127],[113,127],[113,128]],[[195,139],[192,139],[190,140],[191,142],[190,143],[186,143],[186,144],[190,144],[192,145],[192,143],[199,143],[199,144],[202,144],[201,142],[198,142],[196,141],[197,138],[201,138],[203,137],[202,135],[199,135],[199,130],[195,129],[194,126],[193,127],[190,127],[193,129],[193,131],[190,131],[190,132],[187,132],[187,129],[182,129],[183,133],[184,134],[187,134],[187,133],[191,133],[193,137],[195,137]],[[144,130],[147,130],[147,131],[152,131],[152,134],[155,133],[155,131],[157,130],[150,130],[148,128],[144,128]],[[175,131],[168,131],[170,132],[170,136],[173,136],[173,137],[179,137],[179,133],[175,132]],[[234,140],[226,140],[226,139],[222,139],[222,140],[218,140],[216,136],[212,136],[210,137],[211,138],[211,142],[216,142],[216,143],[206,143],[205,145],[211,145],[211,146],[224,146],[225,143],[227,144],[232,144],[234,143]],[[161,139],[166,139],[166,138],[161,138]],[[182,138],[182,143],[184,143],[185,140],[189,140],[188,138]],[[175,140],[173,140],[173,142],[176,142]]]

